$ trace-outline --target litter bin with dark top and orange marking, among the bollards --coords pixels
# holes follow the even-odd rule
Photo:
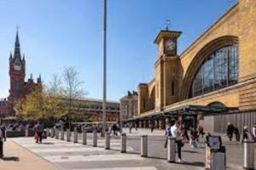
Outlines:
[[[206,140],[206,169],[224,170],[226,167],[226,150],[220,136],[208,135]]]

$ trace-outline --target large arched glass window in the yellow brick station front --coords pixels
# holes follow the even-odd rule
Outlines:
[[[207,94],[238,82],[238,45],[219,48],[203,62],[190,87],[189,97]]]

